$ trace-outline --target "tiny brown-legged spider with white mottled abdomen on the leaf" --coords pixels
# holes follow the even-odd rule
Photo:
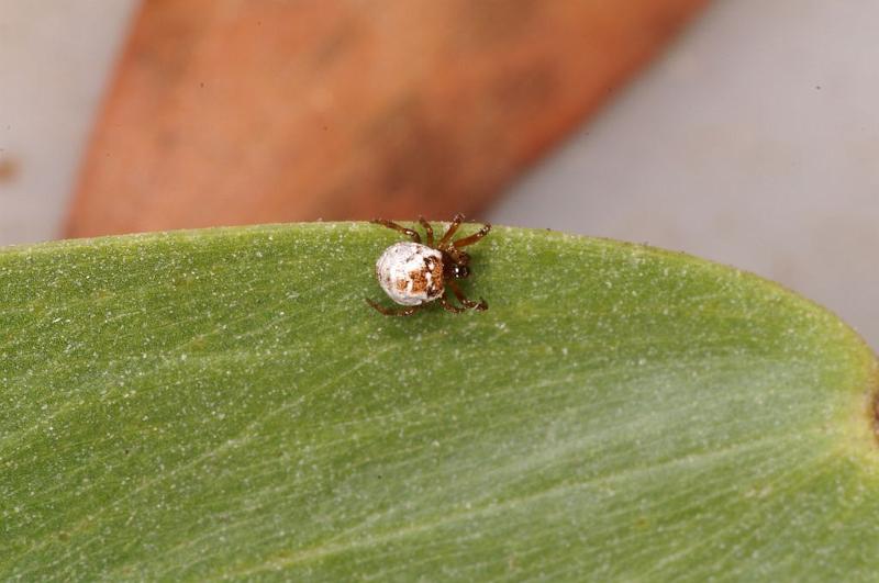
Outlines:
[[[459,314],[467,309],[488,310],[485,300],[468,300],[455,280],[470,276],[470,256],[461,251],[461,247],[472,245],[488,235],[491,225],[487,224],[472,235],[453,242],[452,236],[458,231],[461,221],[463,214],[455,215],[436,245],[433,240],[433,227],[423,216],[419,216],[419,223],[427,235],[426,245],[422,245],[421,235],[416,231],[383,218],[372,221],[412,237],[412,242],[391,245],[376,261],[376,277],[381,289],[391,300],[405,307],[393,310],[369,299],[366,302],[386,316],[411,316],[434,300],[438,300],[443,310],[453,314]],[[452,290],[464,307],[448,301],[446,289]]]

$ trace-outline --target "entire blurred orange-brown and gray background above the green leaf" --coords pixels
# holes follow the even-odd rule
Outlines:
[[[0,245],[474,218],[685,250],[879,346],[875,0],[0,0]]]

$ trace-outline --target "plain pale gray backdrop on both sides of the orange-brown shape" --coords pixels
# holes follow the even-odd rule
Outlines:
[[[132,0],[0,0],[0,245],[54,238]],[[710,8],[497,223],[778,280],[879,346],[879,2]]]

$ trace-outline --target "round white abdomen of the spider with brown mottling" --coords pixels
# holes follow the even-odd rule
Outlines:
[[[432,302],[443,295],[443,254],[420,243],[397,243],[376,261],[376,277],[398,304]]]

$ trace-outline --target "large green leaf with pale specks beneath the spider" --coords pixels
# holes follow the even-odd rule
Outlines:
[[[487,312],[385,317],[399,238],[0,254],[0,579],[876,578],[877,365],[833,315],[496,228]]]

